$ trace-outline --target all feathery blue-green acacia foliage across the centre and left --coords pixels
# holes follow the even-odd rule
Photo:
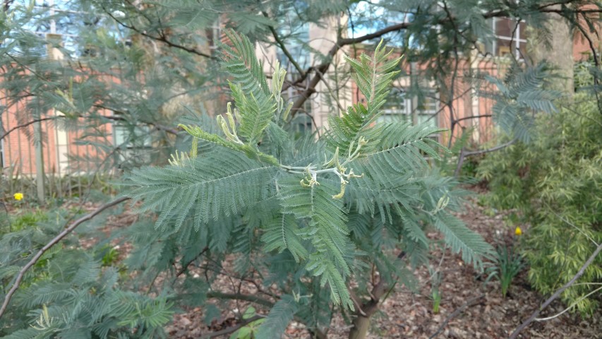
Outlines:
[[[517,6],[505,0],[449,0],[448,12],[435,0],[205,0],[203,6],[186,0],[55,1],[52,18],[59,27],[65,21],[75,25],[64,44],[43,39],[46,32],[30,32],[49,26],[47,6],[5,2],[0,12],[3,112],[18,107],[23,123],[55,109],[63,112],[47,122],[77,133],[76,143],[90,148],[73,160],[90,164],[88,170],[128,173],[122,184],[143,201],[138,205],[143,216],[88,250],[88,256],[79,250],[77,237],[53,247],[26,276],[1,331],[18,331],[13,335],[23,338],[40,333],[136,338],[160,336],[173,304],[203,306],[207,320],[214,318],[219,309],[207,299],[231,297],[216,296],[210,288],[225,273],[241,281],[260,280],[258,289],[277,291],[269,295],[273,303],[260,299],[265,291],[253,299],[256,306],[272,309],[262,324],[246,326],[254,328],[247,335],[259,326],[261,333],[277,336],[293,318],[310,331],[323,331],[335,311],[354,308],[349,289],[360,299],[371,297],[366,292],[373,283],[371,270],[390,285],[399,281],[412,287],[416,281],[407,264],[426,262],[426,234],[433,229],[452,251],[462,251],[464,260],[481,266],[481,257],[492,249],[451,213],[461,206],[463,192],[424,159],[428,155],[436,161],[446,153],[429,138],[438,129],[378,122],[387,88],[399,76],[399,61],[389,59],[383,46],[402,46],[409,61],[427,65],[420,76],[439,79],[441,94],[453,97],[445,93],[454,69],[450,61],[459,53],[469,55],[473,41],[493,36],[483,13],[529,19],[545,30],[542,8],[554,1],[524,0]],[[588,2],[573,1],[576,8]],[[348,68],[335,65],[334,73],[346,74],[332,75],[337,57],[315,49],[303,32],[308,24],[323,27],[341,13],[349,15],[352,29],[375,31],[402,20],[407,25],[383,35],[373,57],[349,60]],[[581,22],[574,13],[561,15],[574,25]],[[222,27],[233,29],[226,32],[228,42],[218,42]],[[470,39],[458,39],[459,32]],[[284,43],[275,41],[278,37]],[[351,47],[349,39],[339,41]],[[277,47],[279,62],[270,64],[270,81],[263,74],[266,65],[255,58],[255,42]],[[294,57],[282,57],[291,44],[296,45]],[[50,58],[49,47],[61,50],[64,59]],[[284,97],[315,83],[320,63],[330,64],[324,74],[330,79],[347,78],[351,69],[367,102],[342,109],[318,136],[294,129],[302,109],[291,112],[292,103]],[[284,71],[293,64],[301,64],[295,76]],[[506,90],[495,114],[505,129],[520,132],[531,124],[527,113],[550,108],[553,95],[541,89],[542,71],[509,73],[502,81]],[[423,97],[416,83],[421,81],[411,90]],[[228,85],[234,105],[221,105],[221,89]],[[205,102],[211,114],[225,113],[217,121],[206,115],[183,117],[203,111]],[[175,137],[177,123],[187,133]],[[109,141],[109,128],[124,131],[124,140]],[[37,141],[28,129],[21,131]],[[162,167],[167,162],[171,165]],[[130,172],[150,163],[158,166]],[[73,179],[54,184],[68,187],[63,191],[76,186],[83,198],[80,185],[98,179],[89,178],[77,177],[77,185]],[[0,186],[11,187],[3,193],[10,197],[13,180]],[[113,188],[103,184],[101,189]],[[2,238],[5,290],[32,253],[60,232],[66,218],[55,217],[36,223],[52,227],[25,227]],[[98,226],[90,222],[83,228]],[[123,263],[107,251],[109,242],[133,245]],[[401,259],[399,251],[407,255]],[[60,270],[59,263],[68,270]],[[120,270],[127,266],[128,274],[114,274],[114,264]],[[195,277],[196,270],[203,270],[202,278]],[[162,279],[155,279],[159,275]],[[139,295],[140,290],[157,297]],[[97,313],[90,314],[90,307]]]

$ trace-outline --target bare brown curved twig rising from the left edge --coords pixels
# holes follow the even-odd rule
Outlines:
[[[11,298],[13,297],[15,292],[18,290],[19,285],[20,285],[21,281],[23,280],[23,276],[25,276],[25,273],[30,268],[32,268],[32,266],[34,266],[38,260],[40,260],[40,258],[46,251],[48,251],[52,246],[58,244],[68,234],[73,232],[73,230],[75,230],[76,227],[78,227],[82,222],[88,221],[88,220],[94,218],[99,213],[101,213],[103,210],[106,210],[107,208],[112,208],[113,206],[119,205],[119,203],[122,203],[129,199],[130,198],[128,198],[128,197],[122,197],[122,198],[115,199],[114,201],[111,201],[110,203],[105,203],[103,206],[100,206],[99,208],[92,211],[91,213],[88,213],[87,215],[84,215],[83,217],[81,217],[78,220],[76,220],[75,222],[73,222],[73,224],[71,224],[69,227],[64,229],[63,232],[59,233],[59,235],[54,237],[54,239],[52,239],[48,244],[44,245],[44,247],[42,247],[42,249],[40,249],[40,251],[38,251],[37,254],[35,254],[35,256],[25,266],[23,266],[23,268],[21,268],[21,270],[19,271],[19,274],[17,275],[17,278],[15,280],[15,283],[13,283],[13,287],[11,287],[11,290],[8,290],[8,293],[6,293],[6,296],[4,297],[4,302],[2,303],[2,307],[0,308],[0,318],[2,318],[2,316],[4,315],[4,311],[6,311],[6,308],[8,307],[8,303],[11,302]]]

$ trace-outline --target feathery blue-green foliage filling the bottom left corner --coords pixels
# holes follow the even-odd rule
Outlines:
[[[20,229],[0,237],[0,283],[7,291],[13,276],[62,230],[68,213],[55,210],[25,215]],[[104,218],[100,218],[103,225]],[[98,222],[99,220],[97,220]],[[26,222],[26,223],[25,223]],[[15,227],[16,228],[16,227]],[[97,235],[86,227],[80,235]],[[167,298],[127,291],[128,282],[111,266],[114,249],[83,249],[71,236],[37,261],[21,283],[0,321],[2,338],[157,338],[171,320]],[[110,261],[110,262],[109,262]],[[4,293],[0,294],[4,297]]]

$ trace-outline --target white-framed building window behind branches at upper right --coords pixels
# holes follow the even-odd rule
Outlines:
[[[509,18],[492,18],[489,20],[494,33],[493,42],[486,44],[485,51],[495,57],[507,57],[514,53],[516,59],[524,59],[526,55],[526,23]]]

